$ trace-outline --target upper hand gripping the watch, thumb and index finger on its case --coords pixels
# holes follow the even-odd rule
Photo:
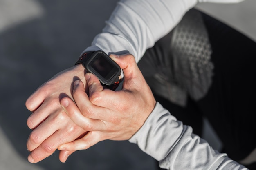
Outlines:
[[[130,54],[110,57],[124,71],[122,90],[104,89],[95,75],[87,73],[85,78],[90,95],[85,93],[83,83],[76,81],[73,91],[75,103],[68,97],[61,99],[61,105],[67,115],[88,131],[81,139],[58,147],[58,150],[65,150],[65,153],[59,156],[61,161],[65,161],[74,150],[87,149],[99,141],[130,139],[155,107],[153,93],[135,58]]]

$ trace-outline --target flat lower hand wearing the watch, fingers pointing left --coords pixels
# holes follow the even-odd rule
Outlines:
[[[63,97],[73,99],[74,80],[80,79],[86,84],[84,74],[81,64],[62,71],[27,99],[26,107],[33,112],[27,119],[27,126],[33,130],[27,140],[29,162],[39,162],[52,155],[61,144],[85,134],[86,131],[74,124],[59,104]],[[60,155],[62,152],[65,151]]]

